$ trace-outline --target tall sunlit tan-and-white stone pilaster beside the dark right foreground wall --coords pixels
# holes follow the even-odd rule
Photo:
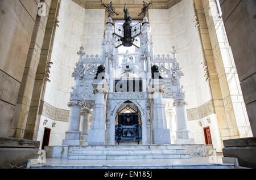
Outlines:
[[[202,2],[225,112],[227,114],[230,137],[244,138],[252,134],[234,63],[233,52],[215,1],[203,0]]]

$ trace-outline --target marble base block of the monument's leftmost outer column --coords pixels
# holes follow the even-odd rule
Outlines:
[[[62,145],[80,145],[80,131],[66,131]]]

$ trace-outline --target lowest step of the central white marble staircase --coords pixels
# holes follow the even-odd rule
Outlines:
[[[171,158],[191,158],[189,154],[185,153],[164,153],[164,154],[71,154],[68,156],[69,160],[129,160],[129,159],[171,159]]]

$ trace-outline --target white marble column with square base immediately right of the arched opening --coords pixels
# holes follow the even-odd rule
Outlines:
[[[170,130],[164,128],[164,113],[163,105],[163,86],[164,83],[159,79],[151,79],[150,92],[153,98],[153,143],[154,144],[171,144]]]

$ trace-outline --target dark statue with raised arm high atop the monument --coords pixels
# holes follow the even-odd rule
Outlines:
[[[126,4],[125,4],[126,7]],[[122,38],[123,46],[130,47],[133,45],[133,38],[131,38],[131,16],[129,15],[128,9],[123,8],[125,12],[125,23],[123,23],[124,37]]]

